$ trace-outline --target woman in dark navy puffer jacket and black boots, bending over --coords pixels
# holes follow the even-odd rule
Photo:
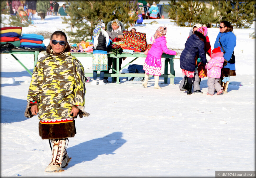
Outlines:
[[[182,74],[185,75],[184,85],[182,88],[187,90],[187,95],[192,94],[191,90],[193,86],[193,79],[195,78],[194,72],[197,54],[199,54],[204,64],[207,62],[205,54],[206,34],[207,28],[200,27],[200,30],[195,31],[195,34],[191,35],[187,39],[185,48],[180,55],[180,68],[182,69]]]

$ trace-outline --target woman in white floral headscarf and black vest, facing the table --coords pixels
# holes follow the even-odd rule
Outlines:
[[[92,56],[92,70],[93,80],[92,85],[97,85],[97,71],[99,74],[99,85],[104,85],[104,71],[108,68],[107,47],[110,44],[109,35],[105,31],[105,24],[100,22],[93,30],[93,56]]]

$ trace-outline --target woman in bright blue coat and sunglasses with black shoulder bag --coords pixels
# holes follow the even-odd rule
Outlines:
[[[234,61],[230,61],[232,53],[234,52],[234,48],[236,46],[237,38],[233,31],[233,26],[228,21],[220,22],[220,32],[216,38],[214,43],[214,48],[220,46],[221,52],[224,53],[224,59],[227,63],[221,70],[220,83],[223,88],[223,93],[227,93],[227,88],[229,84],[229,77],[236,75],[235,63]],[[221,47],[222,46],[222,47]]]

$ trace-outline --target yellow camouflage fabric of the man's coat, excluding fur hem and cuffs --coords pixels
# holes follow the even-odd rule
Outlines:
[[[38,103],[39,120],[72,118],[72,106],[84,106],[84,95],[84,68],[69,52],[47,54],[36,63],[27,101]]]

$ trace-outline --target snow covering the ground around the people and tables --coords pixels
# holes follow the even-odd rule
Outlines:
[[[149,42],[165,25],[167,47],[180,55],[191,28],[169,19],[148,24],[152,21],[135,28],[146,33]],[[44,21],[35,16],[36,27],[23,27],[22,33],[70,30],[61,22],[60,16]],[[77,134],[67,148],[72,159],[58,173],[44,172],[51,149],[48,140],[39,137],[37,116],[24,117],[31,76],[11,55],[1,54],[1,177],[214,177],[216,170],[255,170],[255,39],[249,38],[254,31],[255,24],[233,31],[237,75],[230,77],[228,94],[206,95],[207,77],[200,84],[203,94],[181,92],[179,55],[174,85],[160,78],[162,90],[154,90],[154,78],[148,88],[125,78],[119,85],[86,83],[85,110],[90,116],[76,119]],[[212,48],[218,32],[208,28]],[[39,57],[44,55],[40,52]],[[32,72],[33,56],[17,56]],[[92,71],[90,58],[78,59]],[[143,65],[144,58],[134,63]]]

